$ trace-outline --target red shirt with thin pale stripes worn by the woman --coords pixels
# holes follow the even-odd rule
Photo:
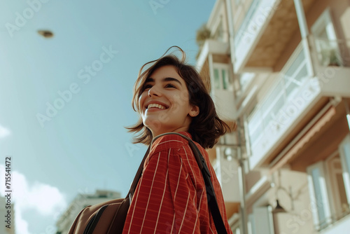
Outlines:
[[[200,144],[197,147],[207,161],[226,229],[232,233],[208,153]],[[183,137],[165,135],[153,142],[127,213],[123,234],[127,233],[217,233],[202,172]]]

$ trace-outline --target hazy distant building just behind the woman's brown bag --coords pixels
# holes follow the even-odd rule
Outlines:
[[[116,198],[120,198],[120,193],[116,191],[97,190],[94,194],[78,194],[57,220],[57,234],[68,233],[74,219],[84,207]]]

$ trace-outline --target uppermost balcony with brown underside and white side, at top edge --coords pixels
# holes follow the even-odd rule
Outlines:
[[[303,0],[307,12],[314,0]],[[293,1],[253,0],[235,36],[235,73],[272,69],[298,32]]]

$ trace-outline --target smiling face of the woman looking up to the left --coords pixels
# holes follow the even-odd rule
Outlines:
[[[198,106],[190,105],[186,82],[175,67],[155,69],[139,97],[139,111],[153,137],[165,132],[187,131]]]

